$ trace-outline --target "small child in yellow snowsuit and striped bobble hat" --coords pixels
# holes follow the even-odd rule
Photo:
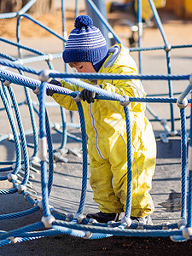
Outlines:
[[[116,44],[108,49],[98,28],[92,26],[89,16],[75,20],[75,29],[69,34],[63,60],[79,73],[137,74],[135,61],[128,49]],[[85,80],[102,89],[127,96],[145,96],[139,80]],[[89,213],[87,218],[98,222],[118,221],[125,212],[127,187],[126,129],[124,108],[119,102],[94,99],[95,94],[65,81],[52,80],[51,84],[81,91],[84,119],[90,156],[90,185],[100,212]],[[47,90],[63,108],[78,110],[71,96]],[[156,145],[151,125],[144,115],[145,104],[131,102],[132,140],[132,204],[131,219],[151,224],[148,216],[154,211],[148,193],[154,174]]]

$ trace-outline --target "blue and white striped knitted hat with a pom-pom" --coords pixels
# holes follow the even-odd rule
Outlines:
[[[93,21],[87,15],[80,15],[74,23],[75,28],[69,34],[63,60],[68,62],[102,61],[108,54],[108,46],[102,32],[93,26]]]

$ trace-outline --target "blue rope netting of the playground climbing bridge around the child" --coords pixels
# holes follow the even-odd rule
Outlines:
[[[17,17],[17,43],[10,41],[9,39],[0,38],[4,44],[11,44],[19,50],[19,59],[15,59],[10,55],[0,53],[0,95],[3,102],[3,108],[1,111],[5,111],[9,120],[9,124],[12,130],[12,134],[1,135],[0,141],[9,140],[15,144],[15,161],[3,161],[1,162],[2,167],[0,172],[9,172],[9,174],[0,177],[0,182],[8,180],[13,184],[13,188],[0,189],[0,195],[9,195],[20,193],[24,198],[32,204],[31,209],[27,209],[21,212],[13,212],[8,214],[0,215],[0,220],[6,220],[11,218],[19,218],[26,215],[30,215],[33,212],[38,212],[43,210],[43,217],[41,220],[34,224],[29,224],[21,227],[17,230],[0,230],[0,246],[9,244],[11,242],[17,241],[29,241],[32,239],[41,238],[44,236],[55,236],[61,234],[69,234],[71,236],[79,236],[89,239],[98,239],[108,236],[170,236],[174,241],[185,241],[192,238],[192,143],[189,143],[189,153],[188,153],[188,166],[187,166],[187,128],[185,107],[192,100],[187,97],[192,89],[192,76],[190,74],[183,75],[172,75],[170,69],[170,59],[171,59],[171,49],[179,48],[189,48],[192,47],[191,44],[185,45],[175,45],[172,46],[168,43],[166,34],[164,32],[163,26],[160,21],[160,17],[155,9],[154,2],[148,0],[151,9],[154,13],[154,19],[156,20],[157,26],[160,29],[160,33],[164,40],[164,46],[162,47],[151,47],[142,48],[142,33],[139,33],[139,47],[131,48],[130,52],[137,51],[139,54],[139,63],[141,63],[141,54],[143,51],[158,50],[163,49],[166,53],[166,64],[167,64],[167,74],[165,75],[144,75],[142,74],[142,66],[140,65],[140,74],[134,75],[118,75],[118,74],[107,74],[107,73],[60,73],[54,70],[52,61],[54,59],[61,58],[61,54],[44,54],[44,52],[26,47],[20,44],[20,19],[26,18],[32,20],[38,26],[41,26],[46,31],[53,34],[55,37],[62,40],[63,43],[66,42],[66,38],[57,34],[51,30],[48,26],[40,23],[38,20],[34,19],[31,15],[27,15],[26,11],[35,3],[36,0],[32,0],[26,4],[26,6],[21,9],[18,13],[1,14],[0,19],[10,19]],[[113,34],[113,38],[120,42],[119,37],[113,32],[113,28],[108,24],[108,20],[103,17],[100,10],[96,8],[95,3],[91,0],[86,0],[90,7],[96,12],[99,19],[102,20],[104,26],[109,32]],[[142,1],[138,1],[138,6],[142,4]],[[62,22],[65,25],[65,4],[61,1],[62,10]],[[138,23],[141,21],[141,9],[138,9]],[[65,27],[65,26],[63,26]],[[138,26],[140,27],[140,26]],[[140,27],[141,29],[141,27]],[[65,31],[63,34],[66,34]],[[22,49],[25,49],[37,56],[30,58],[22,57]],[[31,63],[35,61],[46,61],[48,69],[39,70],[37,68],[32,68],[26,66],[26,63]],[[12,68],[12,71],[10,71]],[[27,73],[27,75],[26,75]],[[30,76],[32,75],[32,76]],[[35,79],[34,79],[35,77]],[[84,125],[84,112],[79,98],[79,91],[72,91],[60,86],[53,86],[49,84],[49,79],[64,79],[65,81],[76,84],[86,90],[91,90],[96,92],[96,99],[99,100],[110,100],[117,101],[120,105],[124,107],[125,110],[125,122],[127,131],[127,198],[126,198],[126,208],[125,217],[120,222],[111,222],[108,224],[101,224],[97,222],[90,223],[86,218],[84,218],[84,201],[87,190],[87,142],[86,142],[86,131]],[[139,97],[124,97],[116,93],[110,93],[107,90],[102,90],[102,88],[93,87],[90,84],[79,79],[141,79],[141,80],[166,80],[168,83],[168,96],[148,96],[146,98]],[[172,91],[172,81],[173,80],[186,80],[189,81],[189,86],[179,96],[174,97]],[[24,88],[26,100],[24,102],[18,103],[16,101],[15,92],[12,88],[12,84],[20,85]],[[55,125],[49,124],[49,114],[47,113],[46,107],[58,106],[53,103],[45,101],[45,91],[46,89],[55,90],[55,92],[67,96],[72,96],[73,100],[77,102],[79,108],[79,120],[80,125],[71,122],[67,124],[66,114],[63,108],[60,108],[62,125],[60,128],[61,132],[61,147],[57,150],[53,148],[51,129],[57,129]],[[37,95],[37,102],[33,102],[29,94],[29,90],[32,90]],[[181,120],[181,214],[180,220],[173,224],[136,224],[131,222],[131,121],[129,116],[129,104],[130,102],[147,102],[147,103],[158,103],[158,104],[168,104],[171,110],[171,119],[169,120],[172,124],[170,131],[166,133],[166,137],[176,135],[174,127],[174,114],[173,105],[176,105],[180,109],[180,120]],[[20,107],[22,105],[27,105],[30,113],[30,119],[32,123],[32,131],[24,131]],[[35,108],[38,106],[38,109]],[[38,113],[39,127],[36,123],[35,113]],[[151,111],[153,113],[153,111]],[[72,117],[73,119],[73,117]],[[154,120],[161,122],[158,116],[154,115]],[[165,122],[162,122],[166,130]],[[74,128],[80,128],[81,137],[75,137],[67,132],[67,127],[72,126]],[[19,131],[19,132],[18,132]],[[189,137],[192,136],[192,120],[190,119],[190,129]],[[32,135],[33,143],[26,142],[26,136]],[[79,199],[78,211],[74,214],[65,214],[63,212],[56,211],[54,207],[49,207],[49,195],[51,193],[52,186],[54,184],[54,158],[57,157],[62,161],[67,161],[61,154],[62,149],[65,148],[67,143],[67,137],[72,137],[73,140],[82,143],[83,152],[83,172],[82,172],[82,188],[81,195]],[[28,148],[32,148],[32,156],[28,155]],[[47,155],[48,154],[48,155]],[[32,177],[32,172],[38,172],[36,167],[40,168],[41,176],[41,196],[38,198],[36,195],[32,194],[29,189],[30,182],[29,178]],[[187,191],[187,167],[189,169],[188,177],[188,191]],[[188,200],[188,203],[187,203]],[[42,230],[44,229],[45,230]]]

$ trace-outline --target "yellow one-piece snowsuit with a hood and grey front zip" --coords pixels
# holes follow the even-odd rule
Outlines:
[[[137,74],[135,61],[128,49],[116,44],[109,49],[109,56],[99,73]],[[86,80],[89,84],[93,81]],[[104,90],[127,96],[145,95],[139,80],[99,79]],[[83,90],[79,86],[61,81],[70,90]],[[93,85],[94,86],[94,85]],[[62,107],[78,110],[71,96],[54,94]],[[88,153],[90,156],[90,185],[99,209],[106,213],[125,212],[127,186],[126,129],[124,108],[115,101],[95,100],[82,102]],[[156,159],[156,144],[152,127],[144,115],[145,103],[131,102],[132,140],[132,204],[131,216],[144,217],[154,211],[148,193],[151,189]]]

